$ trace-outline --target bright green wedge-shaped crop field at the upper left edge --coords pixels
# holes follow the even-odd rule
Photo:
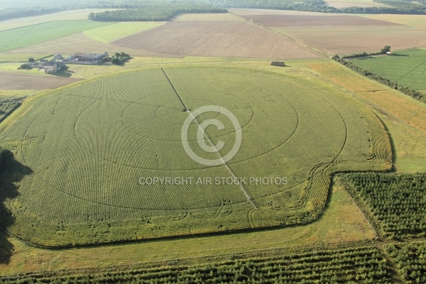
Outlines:
[[[27,45],[42,43],[46,40],[53,40],[65,35],[71,35],[72,33],[87,31],[92,28],[99,28],[107,25],[111,25],[111,23],[94,21],[52,21],[0,31],[0,52],[13,50],[15,48],[23,48]]]

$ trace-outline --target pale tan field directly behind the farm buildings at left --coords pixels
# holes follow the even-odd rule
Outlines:
[[[148,51],[142,49],[132,49],[124,48],[122,46],[113,45],[111,43],[102,43],[100,41],[89,38],[89,36],[84,33],[75,33],[73,35],[68,35],[63,38],[58,38],[55,40],[48,40],[43,43],[38,43],[35,45],[28,45],[24,48],[18,48],[15,50],[9,50],[4,53],[0,53],[2,61],[8,58],[8,54],[11,54],[11,57],[20,54],[62,54],[62,55],[72,55],[74,53],[104,53],[105,51],[109,53],[121,52],[130,54],[131,56],[139,57],[167,57],[167,58],[176,58],[177,55],[172,54],[163,54],[157,53],[155,51]]]

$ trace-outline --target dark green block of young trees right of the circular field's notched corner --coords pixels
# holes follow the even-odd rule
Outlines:
[[[349,182],[391,239],[426,236],[426,173],[350,173]]]

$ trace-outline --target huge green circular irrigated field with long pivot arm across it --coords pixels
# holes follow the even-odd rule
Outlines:
[[[164,72],[167,74],[170,82]],[[33,170],[7,202],[12,234],[42,246],[152,239],[312,222],[324,209],[332,173],[386,170],[386,131],[371,112],[302,77],[221,67],[141,70],[65,87],[35,102],[2,140],[21,141],[21,163]],[[309,87],[307,87],[309,86]],[[223,165],[192,160],[182,124],[206,105],[229,109],[243,131],[227,163],[237,178],[285,178],[281,184],[202,183],[231,178]],[[206,113],[225,129],[206,134],[226,155],[235,129],[224,114]],[[203,158],[197,129],[189,143]],[[146,185],[140,178],[193,178],[185,185]],[[31,225],[33,224],[33,225]],[[34,225],[36,224],[36,225]]]

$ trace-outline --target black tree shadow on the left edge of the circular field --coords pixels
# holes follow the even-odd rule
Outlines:
[[[31,175],[33,170],[26,165],[22,165],[17,160],[11,158],[0,173],[0,263],[9,263],[13,253],[13,244],[8,239],[8,229],[15,219],[6,207],[6,200],[18,197],[17,183],[26,175]]]

